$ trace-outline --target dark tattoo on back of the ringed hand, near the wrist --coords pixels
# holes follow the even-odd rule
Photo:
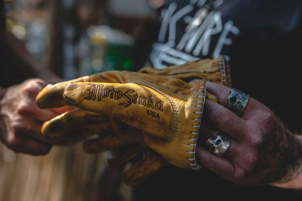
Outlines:
[[[282,123],[263,133],[258,151],[256,173],[271,172],[264,183],[287,183],[302,172],[302,143]]]

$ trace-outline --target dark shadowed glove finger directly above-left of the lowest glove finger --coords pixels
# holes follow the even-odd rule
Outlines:
[[[130,160],[141,155],[143,147],[139,145],[131,145],[115,150],[114,156],[107,159],[107,166],[110,171],[118,171]]]

